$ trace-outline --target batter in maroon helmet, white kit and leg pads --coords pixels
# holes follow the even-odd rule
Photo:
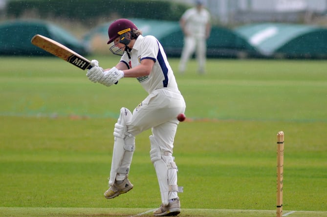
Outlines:
[[[134,23],[115,20],[108,29],[110,51],[122,55],[120,62],[103,70],[97,60],[87,72],[87,78],[106,86],[122,78],[136,78],[149,93],[133,111],[121,108],[114,127],[114,144],[109,177],[108,199],[133,188],[128,179],[135,150],[135,136],[152,129],[150,158],[159,182],[162,204],[154,216],[175,216],[180,213],[177,196],[177,167],[173,157],[174,137],[179,113],[185,111],[185,101],[178,90],[172,68],[160,42],[153,36],[142,36]],[[128,96],[126,96],[128,100]]]

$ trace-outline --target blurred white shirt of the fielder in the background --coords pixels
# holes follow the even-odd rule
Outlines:
[[[181,19],[186,21],[186,30],[196,38],[206,37],[206,24],[210,21],[210,13],[201,8],[200,11],[190,8],[184,12]]]

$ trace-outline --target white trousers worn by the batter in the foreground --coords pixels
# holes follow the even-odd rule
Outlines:
[[[179,121],[177,115],[185,112],[185,101],[179,91],[170,88],[154,90],[133,111],[128,132],[134,137],[152,128],[162,152],[173,153],[174,137]]]

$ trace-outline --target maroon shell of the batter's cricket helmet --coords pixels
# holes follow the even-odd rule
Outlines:
[[[134,30],[137,30],[137,27],[131,20],[118,19],[113,21],[108,28],[109,41],[107,44],[111,43],[123,33]]]

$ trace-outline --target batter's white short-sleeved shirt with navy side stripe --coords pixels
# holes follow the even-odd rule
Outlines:
[[[141,64],[142,59],[152,59],[155,62],[149,76],[137,78],[149,94],[164,87],[178,91],[174,73],[168,63],[164,49],[154,36],[138,36],[129,53],[131,55],[132,68]],[[120,61],[130,68],[130,59],[126,52],[124,52]]]

